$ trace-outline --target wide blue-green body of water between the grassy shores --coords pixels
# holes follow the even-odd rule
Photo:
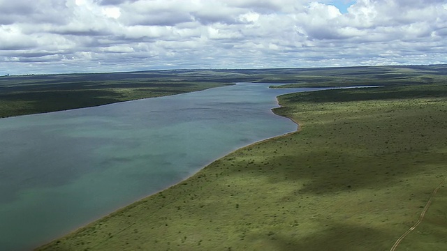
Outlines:
[[[29,250],[296,130],[270,109],[280,94],[314,89],[270,85],[0,119],[0,250]]]

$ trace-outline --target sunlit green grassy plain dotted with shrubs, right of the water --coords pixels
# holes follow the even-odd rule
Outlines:
[[[274,112],[299,132],[230,153],[38,250],[390,250],[447,175],[446,70],[419,82],[427,70],[402,83],[357,76],[385,85],[374,89],[280,96]],[[446,202],[444,184],[397,250],[446,250]]]

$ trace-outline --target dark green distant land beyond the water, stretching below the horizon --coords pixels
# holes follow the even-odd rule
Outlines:
[[[444,71],[441,65],[1,76],[0,118],[168,96],[234,82],[284,83],[283,88],[430,84],[445,81]]]

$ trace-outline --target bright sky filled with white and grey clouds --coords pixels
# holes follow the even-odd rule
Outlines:
[[[0,0],[0,75],[446,58],[447,0]]]

